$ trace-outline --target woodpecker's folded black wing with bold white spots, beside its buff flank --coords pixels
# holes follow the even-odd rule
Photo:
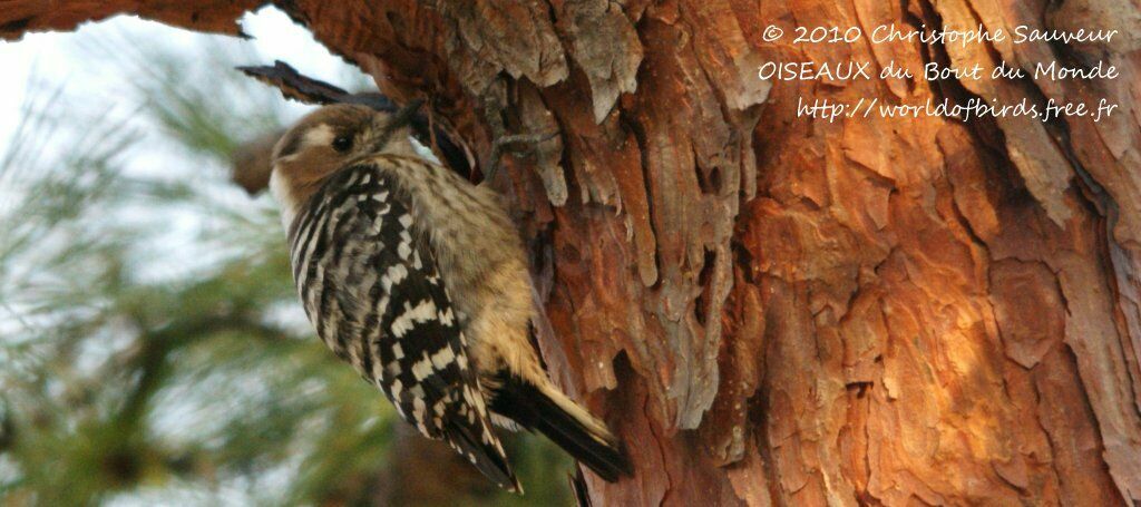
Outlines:
[[[346,200],[357,201],[357,225],[342,231],[351,231],[354,242],[381,246],[367,258],[377,275],[371,293],[355,298],[378,301],[380,332],[361,333],[369,337],[365,355],[379,360],[373,380],[420,433],[444,438],[488,478],[516,490],[436,256],[413,223],[411,198],[383,163],[374,158],[330,178]]]

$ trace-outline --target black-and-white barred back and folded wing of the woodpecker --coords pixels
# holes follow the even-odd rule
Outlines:
[[[408,196],[379,168],[386,162],[330,177],[291,225],[306,313],[325,345],[404,420],[515,489],[436,258],[413,224]]]

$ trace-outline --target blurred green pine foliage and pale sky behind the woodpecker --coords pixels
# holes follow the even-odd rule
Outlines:
[[[568,505],[496,491],[314,336],[272,199],[230,156],[308,108],[236,71],[367,78],[284,15],[251,41],[135,18],[0,42],[0,504]]]

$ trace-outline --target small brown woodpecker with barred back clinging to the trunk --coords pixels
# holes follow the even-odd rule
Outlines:
[[[542,433],[606,481],[631,475],[614,434],[539,361],[542,309],[497,195],[413,147],[418,105],[324,106],[274,147],[269,186],[318,337],[501,488],[521,492],[495,426]]]

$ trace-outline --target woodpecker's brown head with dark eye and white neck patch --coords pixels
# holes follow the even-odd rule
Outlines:
[[[290,128],[274,147],[269,179],[286,214],[286,227],[293,212],[338,169],[381,153],[414,155],[408,123],[419,106],[418,100],[389,113],[363,105],[327,105]]]

